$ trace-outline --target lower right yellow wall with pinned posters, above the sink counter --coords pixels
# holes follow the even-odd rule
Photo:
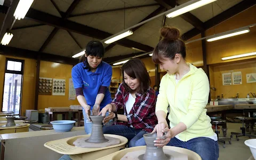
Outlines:
[[[235,98],[236,93],[238,92],[239,98],[246,98],[246,95],[249,92],[256,92],[256,83],[246,83],[246,74],[256,73],[256,61],[236,63],[232,65],[223,65],[223,66],[214,66],[213,75],[214,75],[214,84],[216,88],[215,98],[217,95],[223,93],[224,98]],[[222,85],[222,73],[230,73],[235,71],[242,72],[242,84],[237,85]],[[252,97],[252,95],[250,94]],[[211,98],[214,98],[211,97]]]

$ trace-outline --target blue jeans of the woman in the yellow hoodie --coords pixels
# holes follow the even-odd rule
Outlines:
[[[187,142],[180,141],[177,138],[172,138],[166,146],[174,146],[186,148],[194,151],[202,160],[218,160],[219,145],[218,141],[206,137],[193,138]]]

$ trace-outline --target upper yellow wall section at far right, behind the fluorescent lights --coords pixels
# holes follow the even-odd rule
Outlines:
[[[256,23],[256,5],[235,15],[234,17],[220,23],[206,31],[205,35],[210,36],[224,31],[244,27]],[[250,28],[250,33],[238,35],[226,39],[220,39],[219,41],[207,42],[207,64],[223,63],[230,61],[237,61],[242,59],[256,58],[256,55],[251,57],[237,58],[232,60],[221,60],[223,57],[232,55],[238,55],[243,53],[256,52],[256,26]]]

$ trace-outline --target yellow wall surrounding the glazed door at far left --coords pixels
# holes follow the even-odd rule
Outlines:
[[[0,55],[0,101],[3,103],[4,87],[4,69],[6,58],[22,59],[24,62],[24,74],[22,85],[21,115],[25,115],[27,109],[34,109],[35,104],[35,77],[36,77],[36,60],[19,57],[6,57]]]

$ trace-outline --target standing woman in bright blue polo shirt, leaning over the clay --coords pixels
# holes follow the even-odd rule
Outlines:
[[[111,66],[102,61],[104,47],[99,41],[91,41],[86,45],[85,55],[80,63],[72,68],[72,79],[76,97],[83,107],[84,127],[91,134],[92,123],[89,115],[98,115],[112,99],[109,85],[112,76]]]

